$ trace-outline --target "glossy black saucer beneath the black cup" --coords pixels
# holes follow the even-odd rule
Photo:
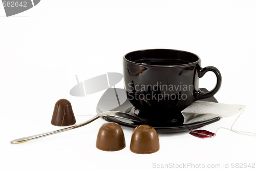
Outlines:
[[[202,91],[207,92],[208,90],[205,88],[201,88]],[[208,102],[216,102],[218,101],[214,98],[204,99],[203,101]],[[198,122],[189,125],[183,125],[184,117],[180,113],[180,111],[176,111],[171,115],[172,117],[164,117],[159,119],[147,119],[143,118],[143,115],[127,100],[126,92],[124,89],[120,88],[108,88],[104,94],[101,96],[98,105],[97,105],[97,113],[102,113],[105,111],[121,111],[124,114],[121,116],[133,116],[136,121],[134,120],[127,120],[122,118],[114,118],[114,117],[104,117],[104,119],[108,122],[115,122],[120,125],[129,126],[129,127],[136,127],[138,125],[147,124],[149,126],[153,126],[157,132],[159,133],[172,133],[172,132],[184,132],[189,131],[191,129],[199,128],[220,120],[220,117],[216,117],[213,119],[209,119],[203,122]]]

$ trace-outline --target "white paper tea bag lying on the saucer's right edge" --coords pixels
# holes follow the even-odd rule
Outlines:
[[[196,101],[181,111],[184,116],[183,124],[203,122],[215,117],[228,117],[242,113],[245,105],[229,105],[222,103]]]

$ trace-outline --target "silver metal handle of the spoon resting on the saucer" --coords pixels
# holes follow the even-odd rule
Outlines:
[[[63,128],[63,129],[59,129],[59,130],[56,130],[56,131],[51,131],[51,132],[41,133],[41,134],[38,134],[38,135],[33,135],[33,136],[23,137],[23,138],[19,138],[19,139],[14,139],[14,140],[10,141],[10,143],[11,144],[23,143],[23,142],[26,142],[26,141],[29,141],[29,140],[32,140],[32,139],[38,139],[38,138],[41,138],[41,137],[54,135],[54,134],[57,134],[57,133],[60,133],[60,132],[69,131],[71,129],[76,129],[76,128],[82,127],[84,125],[90,124],[91,122],[93,122],[97,118],[101,117],[102,115],[103,114],[98,114],[98,115],[92,117],[91,119],[87,120],[84,123],[77,124],[77,125],[74,125],[74,126],[71,126],[71,127],[68,127],[68,128]]]

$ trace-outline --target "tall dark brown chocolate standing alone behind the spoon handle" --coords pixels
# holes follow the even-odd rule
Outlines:
[[[52,122],[54,126],[71,126],[76,123],[71,103],[67,99],[60,99],[55,103]]]

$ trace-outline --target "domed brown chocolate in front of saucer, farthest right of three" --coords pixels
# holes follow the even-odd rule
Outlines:
[[[156,130],[148,125],[137,126],[132,134],[130,150],[136,154],[151,154],[159,150]]]

